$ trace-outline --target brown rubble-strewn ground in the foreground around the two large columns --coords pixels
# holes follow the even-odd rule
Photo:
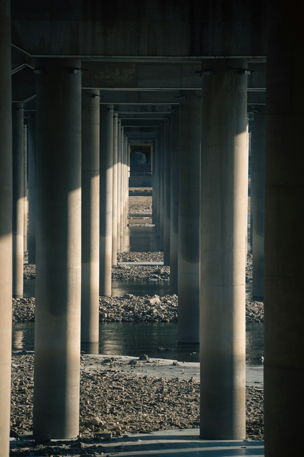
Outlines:
[[[96,365],[97,357],[80,357],[80,429],[76,442],[100,446],[98,450],[91,449],[95,451],[93,454],[103,452],[100,444],[103,441],[124,434],[199,426],[200,383],[192,376],[182,379],[174,374],[171,377],[153,376],[152,367],[147,375],[146,365],[154,364],[157,370],[158,361],[145,357],[130,361],[121,361],[119,357],[104,358]],[[10,424],[13,436],[32,430],[33,369],[33,353],[13,354]],[[262,440],[263,431],[263,387],[247,387],[247,439]],[[14,443],[18,444],[18,441]],[[71,443],[67,444],[55,445],[52,442],[40,444],[37,449],[35,443],[23,447],[17,445],[11,449],[10,455],[90,454],[82,451],[85,446],[69,447]]]

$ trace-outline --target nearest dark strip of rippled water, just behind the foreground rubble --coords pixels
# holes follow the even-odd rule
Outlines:
[[[264,354],[263,324],[246,324],[246,364],[260,365],[259,356]],[[13,351],[34,351],[34,322],[13,323]],[[158,348],[172,351],[159,351]],[[95,348],[82,345],[85,352]],[[97,350],[95,350],[95,353]],[[100,322],[99,354],[173,359],[185,362],[199,361],[199,345],[178,345],[177,324],[145,322]]]

